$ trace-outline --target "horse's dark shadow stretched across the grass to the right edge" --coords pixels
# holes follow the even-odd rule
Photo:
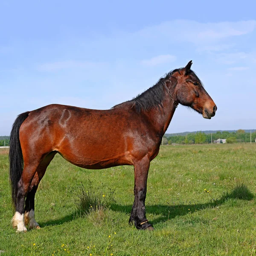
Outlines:
[[[218,207],[221,204],[224,204],[229,199],[240,199],[250,201],[254,198],[254,195],[247,189],[247,186],[244,184],[237,185],[232,192],[225,193],[218,200],[211,200],[206,204],[178,204],[178,205],[148,205],[146,206],[147,215],[154,214],[160,215],[160,217],[154,218],[153,221],[150,221],[152,224],[157,224],[160,222],[167,221],[168,219],[175,218],[176,216],[186,215],[188,212],[195,212],[198,210],[203,210],[212,207]],[[120,205],[120,204],[111,204],[110,209],[115,212],[124,212],[130,214],[132,205]],[[76,218],[79,218],[80,214],[78,211],[73,212],[70,215],[64,216],[63,218],[40,222],[41,227],[53,226],[63,224],[65,222],[73,221]]]

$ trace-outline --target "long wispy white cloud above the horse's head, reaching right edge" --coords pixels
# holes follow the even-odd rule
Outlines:
[[[172,20],[149,26],[134,33],[134,39],[156,41],[157,38],[167,41],[182,41],[194,44],[198,49],[213,48],[213,51],[223,50],[227,45],[221,41],[246,35],[256,28],[256,20],[238,22],[200,23],[193,20]],[[219,47],[215,47],[220,44]],[[219,48],[219,49],[218,49]]]

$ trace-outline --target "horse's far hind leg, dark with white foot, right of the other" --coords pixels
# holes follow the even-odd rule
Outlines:
[[[29,187],[29,192],[26,196],[25,201],[25,225],[29,225],[29,229],[36,228],[40,229],[39,224],[35,221],[35,193],[38,189],[38,185],[41,179],[44,177],[46,169],[57,152],[53,151],[48,154],[44,160],[40,163]]]

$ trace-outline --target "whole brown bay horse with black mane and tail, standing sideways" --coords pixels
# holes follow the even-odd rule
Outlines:
[[[129,222],[153,230],[145,216],[148,169],[177,105],[211,119],[217,107],[190,69],[166,74],[157,84],[110,110],[48,105],[20,114],[10,138],[10,180],[17,231],[40,228],[34,218],[35,193],[47,166],[59,153],[87,169],[134,166],[134,204]],[[26,198],[26,201],[25,201]],[[25,205],[25,208],[24,208]]]

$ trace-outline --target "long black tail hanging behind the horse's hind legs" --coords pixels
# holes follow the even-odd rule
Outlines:
[[[29,116],[29,112],[22,113],[17,116],[10,135],[10,151],[9,151],[9,173],[12,186],[12,202],[16,207],[17,183],[20,180],[23,171],[23,156],[20,146],[20,125]]]

